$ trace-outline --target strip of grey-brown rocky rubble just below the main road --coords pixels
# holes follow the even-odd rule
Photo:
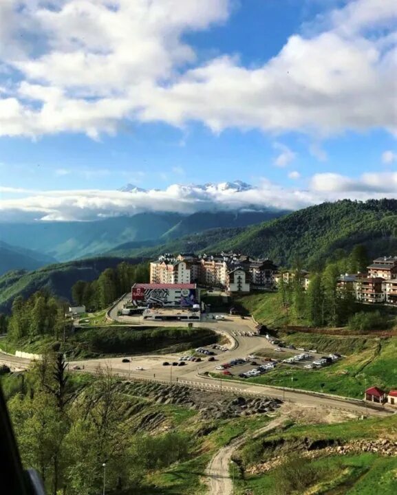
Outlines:
[[[194,408],[205,418],[227,419],[264,414],[279,408],[281,401],[269,397],[242,397],[231,393],[200,391],[180,385],[155,382],[124,384],[126,391],[137,397],[147,397],[157,404],[176,404]]]

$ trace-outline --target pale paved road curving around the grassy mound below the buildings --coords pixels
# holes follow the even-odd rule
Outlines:
[[[114,311],[116,311],[118,305],[122,305],[122,301],[115,305]],[[129,321],[131,319],[130,317],[118,317],[117,319],[125,323],[131,323]],[[153,326],[153,322],[148,322],[147,325]],[[158,325],[158,322],[156,322],[156,325]],[[171,325],[175,325],[175,322],[171,323]],[[283,391],[281,388],[261,386],[250,382],[231,382],[230,380],[215,380],[205,377],[203,374],[206,371],[214,371],[216,364],[219,364],[219,362],[241,358],[265,347],[269,349],[274,349],[274,347],[264,337],[242,336],[242,333],[252,333],[255,329],[253,321],[249,318],[242,320],[241,318],[228,317],[226,321],[204,320],[193,325],[210,328],[218,333],[222,333],[224,336],[228,336],[230,340],[229,351],[220,354],[217,362],[203,360],[198,363],[188,362],[185,366],[162,366],[162,362],[164,361],[173,362],[178,360],[181,355],[181,353],[178,353],[169,355],[127,356],[131,361],[129,363],[123,363],[120,357],[75,361],[69,362],[69,369],[79,366],[81,368],[84,367],[84,371],[94,373],[98,369],[98,366],[110,366],[112,373],[131,380],[153,380],[168,383],[179,382],[180,384],[202,388],[204,390],[230,391],[246,395],[267,395],[268,397],[285,399],[296,404],[304,404],[305,406],[323,406],[326,408],[349,410],[357,415],[385,416],[392,414],[390,410],[379,407],[373,408],[369,404],[365,405],[363,401],[354,399],[321,395],[307,391],[294,391],[289,388]],[[30,360],[0,352],[0,362],[8,364],[14,369],[24,369],[29,366]],[[137,367],[142,367],[143,370],[137,370]]]

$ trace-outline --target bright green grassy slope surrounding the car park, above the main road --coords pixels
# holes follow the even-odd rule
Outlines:
[[[277,294],[251,294],[238,298],[237,303],[270,328],[297,324],[280,307]],[[347,355],[347,358],[319,370],[303,370],[298,366],[283,364],[266,375],[250,378],[248,381],[357,398],[363,396],[365,380],[368,386],[397,388],[397,338],[380,339],[376,334],[349,336],[347,330],[346,333],[345,336],[339,336],[299,331],[287,333],[281,330],[279,336],[295,347],[317,349],[325,354],[339,352]],[[279,358],[285,358],[284,354],[279,353]]]

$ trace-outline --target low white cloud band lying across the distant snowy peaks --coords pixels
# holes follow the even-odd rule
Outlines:
[[[364,174],[360,179],[326,173],[312,177],[306,190],[281,188],[270,181],[250,186],[242,181],[219,184],[173,184],[144,190],[129,184],[121,190],[30,191],[1,188],[12,199],[0,200],[2,221],[94,220],[151,212],[193,213],[216,210],[297,210],[323,201],[396,197],[397,173]],[[17,197],[23,195],[23,197]]]

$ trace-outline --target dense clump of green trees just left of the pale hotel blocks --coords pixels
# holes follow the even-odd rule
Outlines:
[[[129,292],[134,283],[149,281],[149,264],[131,265],[123,261],[115,269],[107,268],[92,281],[77,281],[72,287],[76,305],[84,305],[89,311],[105,309],[118,297]]]

